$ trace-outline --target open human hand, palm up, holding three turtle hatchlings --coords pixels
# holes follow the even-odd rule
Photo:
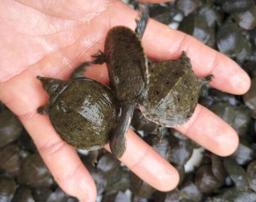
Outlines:
[[[6,1],[0,11],[0,100],[18,115],[61,188],[80,201],[95,201],[94,181],[76,150],[61,140],[48,116],[36,111],[48,99],[36,76],[69,78],[75,67],[103,50],[111,27],[134,30],[137,12],[118,0]],[[142,44],[155,60],[177,59],[186,51],[197,76],[215,76],[210,85],[216,89],[233,94],[249,89],[248,75],[234,61],[182,32],[150,20]],[[105,65],[88,68],[86,76],[108,84]],[[176,129],[220,156],[230,155],[238,146],[235,131],[201,105]],[[126,140],[120,160],[127,167],[161,191],[177,186],[174,167],[132,130]],[[108,145],[105,148],[109,151]]]

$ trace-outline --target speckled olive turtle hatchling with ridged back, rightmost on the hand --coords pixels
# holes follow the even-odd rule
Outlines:
[[[184,51],[179,60],[151,62],[149,72],[148,97],[140,103],[141,112],[148,120],[169,128],[190,119],[202,85],[213,78],[197,78]],[[163,128],[158,128],[158,136],[160,129]]]

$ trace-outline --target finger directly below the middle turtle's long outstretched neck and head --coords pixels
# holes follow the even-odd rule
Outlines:
[[[126,134],[126,141],[126,151],[119,160],[134,174],[160,191],[170,191],[177,187],[177,170],[158,152],[131,129]],[[106,145],[105,149],[110,152],[109,145]]]

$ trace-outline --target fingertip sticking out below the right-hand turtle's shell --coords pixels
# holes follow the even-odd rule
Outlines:
[[[238,147],[234,129],[200,104],[191,119],[175,129],[219,156],[229,156]]]

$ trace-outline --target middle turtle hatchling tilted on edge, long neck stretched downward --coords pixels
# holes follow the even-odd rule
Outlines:
[[[109,145],[114,156],[120,158],[126,149],[126,132],[138,101],[145,97],[149,82],[148,62],[141,46],[141,38],[148,21],[148,7],[140,4],[135,20],[135,32],[125,26],[111,28],[105,39],[104,53],[92,56],[94,64],[106,63],[110,85],[120,102],[122,113],[110,137]]]

